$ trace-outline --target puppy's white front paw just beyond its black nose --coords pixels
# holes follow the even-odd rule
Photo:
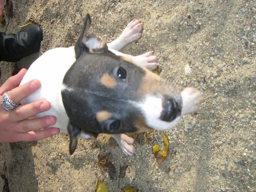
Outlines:
[[[202,93],[192,87],[187,87],[181,92],[183,107],[182,115],[197,111],[199,102],[203,99]]]

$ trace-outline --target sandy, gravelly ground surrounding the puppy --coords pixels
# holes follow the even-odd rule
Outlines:
[[[4,0],[5,3],[5,0]],[[68,154],[68,135],[38,142],[0,145],[0,189],[16,191],[90,191],[101,178],[109,191],[132,185],[140,192],[256,191],[256,2],[254,0],[13,0],[7,33],[35,18],[44,39],[40,53],[18,62],[24,67],[54,47],[75,44],[87,13],[91,34],[112,41],[130,20],[142,19],[143,37],[122,52],[155,50],[161,76],[180,89],[204,93],[197,115],[167,131],[170,154],[156,163],[152,132],[135,134],[137,153],[127,157],[108,135],[79,140]],[[4,28],[0,28],[4,31]],[[1,83],[15,63],[1,62]],[[60,66],[61,68],[61,66]],[[49,69],[50,70],[50,69]],[[49,78],[49,77],[46,77]],[[97,155],[110,152],[125,178],[113,180],[98,167]],[[168,170],[168,167],[170,168]]]

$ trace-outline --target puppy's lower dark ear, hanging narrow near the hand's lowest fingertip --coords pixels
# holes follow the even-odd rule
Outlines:
[[[69,154],[72,155],[77,148],[77,136],[81,133],[81,129],[77,128],[77,126],[68,123],[68,133],[70,136],[69,142]]]

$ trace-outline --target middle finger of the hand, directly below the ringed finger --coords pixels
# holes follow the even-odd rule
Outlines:
[[[37,113],[43,111],[48,111],[51,108],[51,104],[45,100],[39,100],[25,105],[20,105],[14,110],[10,111],[10,120],[11,121],[20,121],[33,117]]]

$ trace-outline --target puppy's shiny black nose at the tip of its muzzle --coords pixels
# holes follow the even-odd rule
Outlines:
[[[181,115],[181,106],[174,99],[163,99],[162,106],[163,111],[160,116],[162,121],[171,122]]]

